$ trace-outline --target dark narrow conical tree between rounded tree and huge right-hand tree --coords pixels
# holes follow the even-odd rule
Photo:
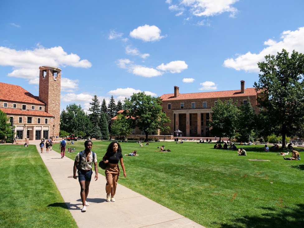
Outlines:
[[[239,108],[239,121],[237,126],[237,131],[241,135],[241,141],[246,142],[250,141],[251,131],[255,128],[256,124],[256,115],[254,114],[254,109],[251,106],[249,97],[247,98],[247,103],[241,105]]]

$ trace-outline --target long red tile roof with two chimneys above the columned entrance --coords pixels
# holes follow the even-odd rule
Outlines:
[[[244,93],[241,90],[226,90],[216,92],[203,92],[203,93],[180,93],[178,97],[174,97],[174,93],[163,94],[160,99],[163,101],[169,100],[189,100],[189,99],[207,99],[218,97],[244,97],[256,96],[255,88],[246,88]]]

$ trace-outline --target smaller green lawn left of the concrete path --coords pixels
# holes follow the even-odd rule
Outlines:
[[[1,145],[0,171],[0,227],[77,227],[35,145]]]

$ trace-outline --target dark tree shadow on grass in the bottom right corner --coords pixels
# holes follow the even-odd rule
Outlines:
[[[265,213],[260,216],[243,216],[230,221],[232,224],[219,224],[221,228],[270,228],[270,227],[304,227],[304,204],[293,208],[275,209],[262,207]]]

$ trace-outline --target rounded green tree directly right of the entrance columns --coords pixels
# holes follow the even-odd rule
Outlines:
[[[235,135],[235,131],[238,126],[239,109],[230,99],[224,103],[221,100],[217,101],[217,104],[212,107],[211,121],[209,126],[212,135],[218,135],[220,137],[231,138]]]

